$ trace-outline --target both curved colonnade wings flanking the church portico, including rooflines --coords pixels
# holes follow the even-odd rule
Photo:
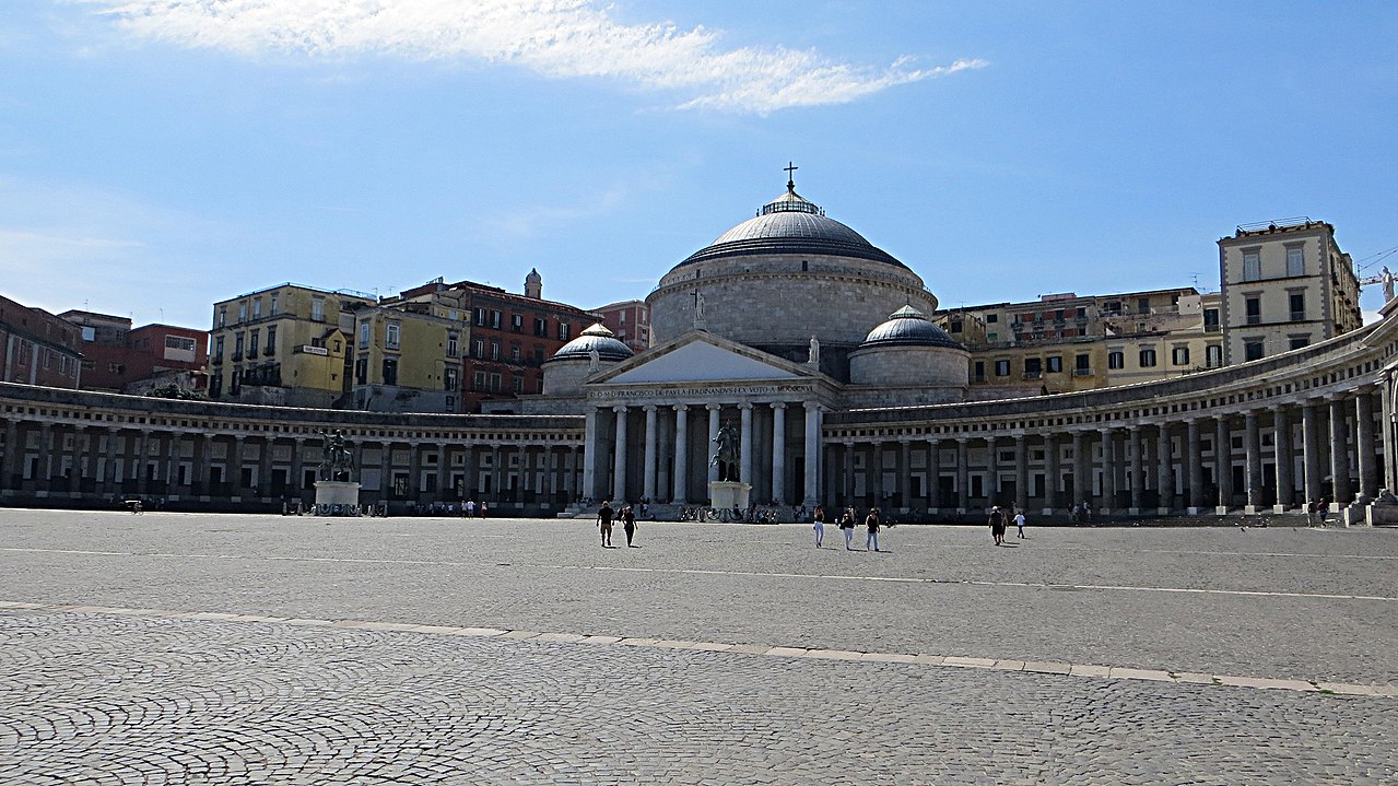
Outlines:
[[[1061,512],[1081,501],[1120,513],[1281,512],[1323,498],[1341,509],[1398,487],[1398,467],[1387,460],[1395,378],[1398,322],[1390,316],[1323,344],[1167,382],[821,411],[805,418],[814,428],[793,429],[821,460],[773,491],[784,503],[808,502],[815,487],[830,505],[917,512],[988,503]],[[540,515],[593,496],[582,490],[605,477],[584,456],[584,415],[305,410],[4,383],[0,427],[7,505],[92,506],[130,495],[186,509],[309,501],[322,432],[334,429],[354,449],[366,503],[474,498],[498,513]],[[656,452],[643,453],[640,477],[608,491],[665,488]]]

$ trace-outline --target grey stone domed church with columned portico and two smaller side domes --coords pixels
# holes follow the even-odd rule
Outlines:
[[[594,324],[544,364],[544,394],[517,403],[586,415],[583,496],[707,502],[712,446],[731,427],[754,502],[815,505],[826,413],[966,394],[966,348],[928,319],[921,277],[790,176],[646,302],[649,350]]]

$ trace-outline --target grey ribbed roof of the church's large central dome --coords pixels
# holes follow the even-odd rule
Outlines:
[[[756,217],[719,235],[675,269],[710,259],[766,253],[847,256],[905,267],[854,229],[828,218],[819,206],[795,193],[795,185],[788,182],[786,193],[762,206]]]

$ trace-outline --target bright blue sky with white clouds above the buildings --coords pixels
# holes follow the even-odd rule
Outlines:
[[[284,281],[583,308],[797,190],[944,308],[1398,269],[1398,4],[4,0],[0,294],[208,327]],[[1362,305],[1378,308],[1378,287]]]

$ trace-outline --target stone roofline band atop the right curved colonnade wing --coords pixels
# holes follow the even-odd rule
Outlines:
[[[829,432],[861,425],[895,427],[917,421],[1005,425],[995,421],[1039,418],[1033,427],[1021,428],[1043,425],[1072,428],[1097,427],[1103,420],[1179,421],[1208,417],[1199,410],[1232,414],[1278,404],[1299,404],[1377,385],[1381,369],[1398,351],[1398,341],[1392,336],[1398,330],[1384,322],[1388,320],[1272,358],[1177,379],[998,401],[847,410],[830,413],[825,425]],[[1043,422],[1046,418],[1072,422]]]

